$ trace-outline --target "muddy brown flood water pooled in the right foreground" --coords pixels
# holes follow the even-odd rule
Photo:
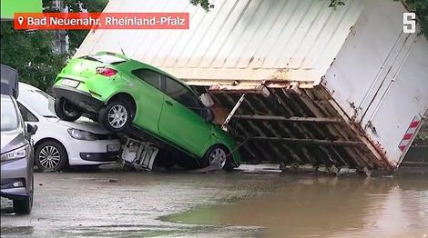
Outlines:
[[[268,193],[164,219],[258,226],[262,237],[428,237],[427,179],[281,174]]]

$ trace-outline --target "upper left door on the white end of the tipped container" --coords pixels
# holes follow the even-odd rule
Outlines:
[[[364,10],[323,80],[334,100],[360,122],[372,100],[389,84],[392,66],[403,62],[410,35],[403,35],[403,5],[364,1]],[[408,46],[406,46],[408,47]]]

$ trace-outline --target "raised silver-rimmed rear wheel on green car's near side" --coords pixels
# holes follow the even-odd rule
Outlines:
[[[133,114],[125,100],[113,100],[101,108],[98,120],[108,131],[118,133],[127,129]]]

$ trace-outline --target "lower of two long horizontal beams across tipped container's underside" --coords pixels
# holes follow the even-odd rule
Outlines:
[[[280,142],[286,144],[314,144],[314,145],[331,145],[331,146],[360,146],[362,142],[355,141],[328,141],[318,139],[296,139],[296,138],[281,138],[281,137],[250,137],[250,140],[265,141],[265,142]]]

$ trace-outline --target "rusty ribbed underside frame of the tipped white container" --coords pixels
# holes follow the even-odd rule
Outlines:
[[[252,85],[250,90],[242,84],[196,87],[199,92],[208,91],[229,112],[228,131],[240,142],[246,141],[240,151],[248,161],[391,171],[391,164],[373,154],[323,86],[305,88],[290,82],[262,82],[261,86]]]

